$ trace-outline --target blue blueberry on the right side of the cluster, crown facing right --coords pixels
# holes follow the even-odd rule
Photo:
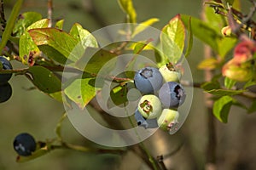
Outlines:
[[[183,104],[186,94],[181,84],[166,82],[159,90],[159,98],[164,108],[173,108]]]

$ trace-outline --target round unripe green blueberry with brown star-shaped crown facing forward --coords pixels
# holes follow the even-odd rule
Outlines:
[[[160,99],[153,95],[144,95],[137,105],[137,110],[147,119],[154,119],[160,116],[162,111]]]

